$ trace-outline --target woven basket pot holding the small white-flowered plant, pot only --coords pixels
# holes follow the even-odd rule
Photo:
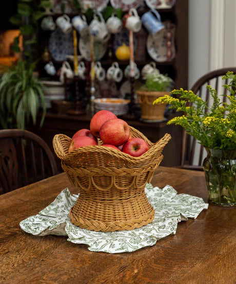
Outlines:
[[[168,92],[136,91],[141,106],[141,118],[144,120],[163,120],[166,103],[152,104],[159,97],[169,94]]]

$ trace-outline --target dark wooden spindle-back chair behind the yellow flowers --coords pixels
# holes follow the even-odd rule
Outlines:
[[[215,90],[217,90],[218,94],[226,94],[226,90],[222,87],[222,85],[227,84],[228,80],[222,80],[222,76],[224,76],[228,71],[236,73],[236,67],[226,67],[213,70],[203,75],[191,87],[191,90],[194,94],[199,95],[201,98],[207,101],[207,107],[211,105],[211,101],[206,85],[211,85],[213,88],[215,88]],[[226,97],[223,96],[222,100],[225,102]],[[198,144],[198,141],[196,141],[195,138],[187,135],[183,130],[181,167],[193,170],[203,170],[202,163],[205,156],[206,151],[204,147]]]

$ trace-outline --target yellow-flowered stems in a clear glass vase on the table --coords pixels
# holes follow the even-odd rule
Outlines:
[[[203,162],[209,203],[234,206],[236,205],[236,75],[227,72],[222,79],[228,79],[223,85],[230,93],[228,102],[220,102],[217,92],[209,85],[207,89],[213,100],[210,108],[207,102],[192,91],[173,90],[171,95],[180,98],[163,96],[153,104],[171,104],[171,109],[184,112],[167,124],[175,123],[182,126],[187,134],[192,135],[203,145],[207,157]],[[223,95],[225,96],[225,95]],[[205,112],[206,111],[206,112]]]

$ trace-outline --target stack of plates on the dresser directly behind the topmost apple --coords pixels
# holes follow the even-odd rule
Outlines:
[[[130,100],[120,98],[102,98],[94,100],[95,112],[107,110],[115,115],[124,115],[129,113]]]

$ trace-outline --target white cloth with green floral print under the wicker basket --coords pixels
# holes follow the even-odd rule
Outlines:
[[[122,253],[136,251],[170,234],[174,235],[178,222],[195,219],[203,209],[208,208],[202,198],[177,194],[169,185],[160,189],[147,184],[145,192],[155,209],[155,218],[141,228],[104,233],[74,226],[70,222],[69,210],[78,196],[71,195],[68,188],[39,214],[21,221],[19,225],[32,235],[68,236],[68,241],[87,244],[90,251]]]

